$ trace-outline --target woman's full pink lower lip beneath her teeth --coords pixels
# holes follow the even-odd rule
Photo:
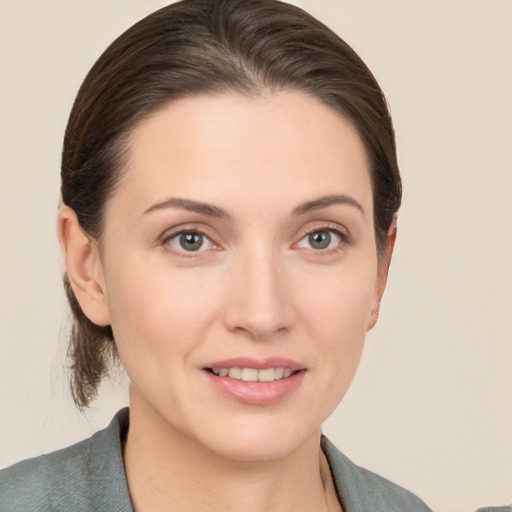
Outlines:
[[[219,377],[207,370],[204,373],[215,389],[228,398],[246,405],[271,405],[291,395],[300,386],[306,371],[299,370],[286,379],[273,382],[245,382]]]

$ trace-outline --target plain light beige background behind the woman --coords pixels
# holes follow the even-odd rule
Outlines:
[[[165,2],[0,0],[0,466],[74,442],[59,153],[85,73]],[[374,71],[405,197],[380,324],[325,431],[439,512],[512,502],[512,2],[303,0]]]

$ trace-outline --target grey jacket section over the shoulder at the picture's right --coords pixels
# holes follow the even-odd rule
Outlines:
[[[403,487],[361,468],[322,436],[338,496],[347,512],[428,512],[429,507]]]

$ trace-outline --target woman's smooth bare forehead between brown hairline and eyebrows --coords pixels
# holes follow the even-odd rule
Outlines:
[[[127,157],[120,189],[136,188],[140,207],[172,194],[224,205],[276,199],[292,208],[306,196],[340,193],[371,209],[367,158],[356,129],[300,92],[169,103],[136,127]]]

